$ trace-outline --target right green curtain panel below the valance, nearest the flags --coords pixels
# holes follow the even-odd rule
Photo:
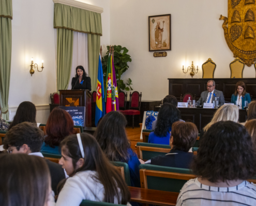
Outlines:
[[[87,41],[88,41],[89,76],[91,77],[92,91],[97,91],[100,36],[88,34]]]

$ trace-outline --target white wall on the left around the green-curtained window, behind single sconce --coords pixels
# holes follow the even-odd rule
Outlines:
[[[110,0],[83,0],[102,7],[102,45],[110,43]],[[50,93],[56,92],[54,3],[52,0],[12,0],[12,59],[9,92],[10,119],[22,101],[31,101],[37,108],[37,122],[46,123],[50,114]],[[106,47],[106,46],[105,46]],[[104,51],[103,51],[104,52]],[[106,50],[105,50],[106,52]],[[34,63],[43,72],[29,74]]]

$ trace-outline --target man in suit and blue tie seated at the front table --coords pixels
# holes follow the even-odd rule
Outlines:
[[[201,96],[197,101],[197,104],[203,106],[204,103],[213,103],[213,101],[215,100],[215,97],[219,101],[219,105],[224,105],[225,100],[224,100],[223,93],[215,89],[214,80],[209,80],[207,82],[207,91],[204,91],[201,93]]]

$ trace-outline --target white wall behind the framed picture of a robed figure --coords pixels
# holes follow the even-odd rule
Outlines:
[[[171,14],[172,50],[167,57],[148,52],[148,16]],[[223,0],[112,0],[110,43],[129,49],[132,62],[123,79],[131,78],[133,90],[143,100],[160,100],[168,94],[168,78],[191,78],[182,66],[194,61],[202,78],[202,64],[211,58],[216,64],[215,78],[230,78],[233,53],[224,39],[223,21],[228,17],[228,1]],[[255,77],[253,65],[245,66],[244,78]]]

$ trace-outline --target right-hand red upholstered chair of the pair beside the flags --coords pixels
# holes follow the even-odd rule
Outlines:
[[[142,94],[135,91],[130,93],[129,110],[121,111],[124,115],[132,115],[132,129],[134,128],[134,115],[140,115]]]

